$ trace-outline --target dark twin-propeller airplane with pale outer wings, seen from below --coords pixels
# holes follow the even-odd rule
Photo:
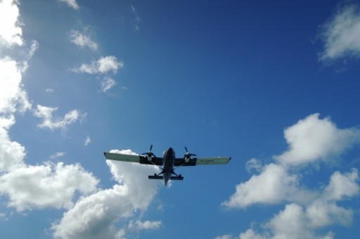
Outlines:
[[[195,166],[207,164],[227,164],[231,157],[193,157],[193,153],[188,153],[188,148],[185,147],[186,154],[184,157],[175,157],[175,152],[172,148],[165,150],[163,157],[156,157],[150,146],[148,153],[141,155],[124,155],[121,153],[107,153],[104,155],[108,160],[117,160],[124,162],[138,162],[140,164],[153,164],[159,167],[162,171],[160,174],[149,175],[148,179],[164,179],[165,186],[169,180],[183,180],[184,176],[176,174],[174,169],[182,166]],[[173,176],[174,175],[174,176]]]

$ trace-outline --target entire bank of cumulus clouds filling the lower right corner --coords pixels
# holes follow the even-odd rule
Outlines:
[[[258,160],[249,160],[246,167],[259,173],[238,184],[222,205],[246,208],[287,203],[263,224],[262,231],[250,228],[240,238],[333,238],[330,231],[318,231],[333,224],[352,225],[353,209],[341,202],[360,195],[358,170],[333,172],[326,186],[310,189],[302,183],[302,169],[319,160],[326,163],[329,157],[339,157],[354,147],[360,140],[359,129],[339,129],[329,118],[321,120],[314,114],[285,129],[284,137],[289,149],[263,167]]]

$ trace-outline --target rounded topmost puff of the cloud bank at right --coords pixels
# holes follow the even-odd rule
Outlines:
[[[274,158],[283,164],[306,164],[339,155],[360,143],[359,129],[338,129],[329,118],[309,115],[284,131],[289,150]]]

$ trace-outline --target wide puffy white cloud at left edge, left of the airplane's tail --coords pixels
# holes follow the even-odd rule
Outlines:
[[[62,162],[19,167],[0,178],[0,193],[9,197],[8,206],[25,209],[73,206],[75,191],[88,194],[96,190],[98,179],[79,164]]]

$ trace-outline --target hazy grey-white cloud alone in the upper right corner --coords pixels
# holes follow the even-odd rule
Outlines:
[[[346,56],[360,57],[360,11],[356,4],[343,6],[323,25],[321,38],[325,46],[320,60]]]

